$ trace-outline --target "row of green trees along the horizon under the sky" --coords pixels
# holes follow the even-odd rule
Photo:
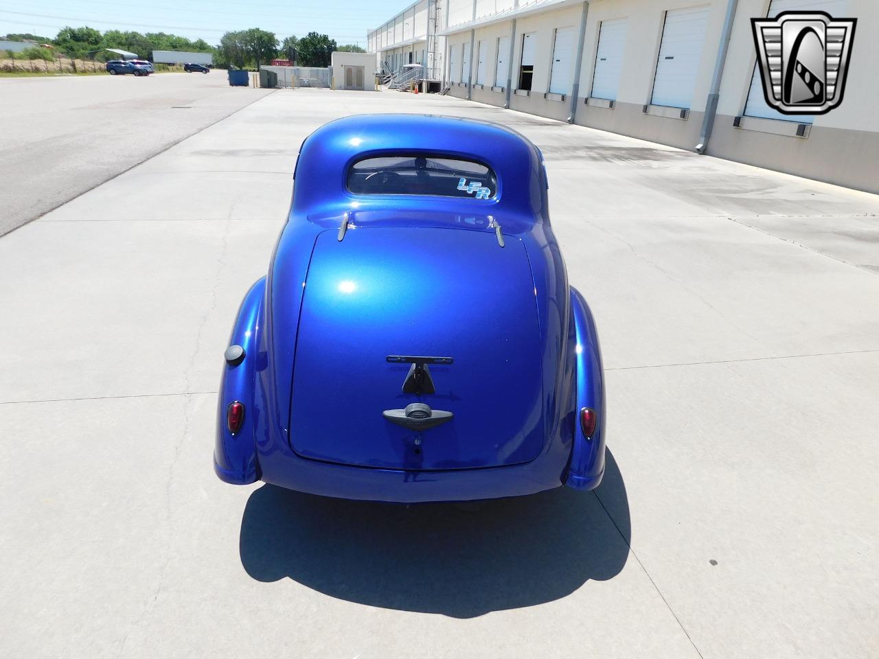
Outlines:
[[[316,32],[310,32],[301,38],[290,36],[279,41],[275,33],[257,27],[225,33],[216,46],[211,46],[203,39],[189,40],[176,34],[142,34],[120,30],[101,33],[88,26],[63,27],[54,39],[30,33],[7,34],[5,39],[34,41],[34,47],[22,53],[30,59],[51,59],[56,54],[63,54],[71,59],[106,62],[118,58],[119,55],[105,48],[127,50],[147,59],[152,59],[154,50],[182,50],[210,53],[214,55],[214,66],[235,66],[239,69],[258,69],[261,64],[268,64],[276,58],[292,60],[299,66],[327,67],[330,66],[330,57],[334,50],[366,52],[353,44],[339,46],[336,40]],[[41,47],[42,44],[51,48]]]

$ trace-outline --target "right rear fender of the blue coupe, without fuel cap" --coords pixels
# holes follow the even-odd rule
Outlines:
[[[570,286],[570,308],[577,335],[577,422],[568,473],[563,480],[569,488],[594,489],[599,486],[605,467],[604,371],[592,312],[573,286]],[[592,408],[598,413],[591,438],[585,437],[580,425],[583,408]]]

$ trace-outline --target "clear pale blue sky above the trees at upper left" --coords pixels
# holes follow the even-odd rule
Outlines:
[[[215,44],[222,33],[261,27],[279,39],[315,31],[339,44],[366,47],[367,29],[378,27],[412,0],[27,0],[0,2],[0,34],[54,37],[64,25],[174,33]]]

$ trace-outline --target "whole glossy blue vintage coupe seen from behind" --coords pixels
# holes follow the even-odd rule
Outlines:
[[[338,119],[244,297],[214,468],[415,503],[598,486],[598,336],[568,285],[540,149],[463,119]]]

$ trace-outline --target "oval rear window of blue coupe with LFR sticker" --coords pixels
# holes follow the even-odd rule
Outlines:
[[[427,194],[492,199],[495,173],[482,163],[448,156],[401,155],[365,158],[348,170],[354,194]]]

